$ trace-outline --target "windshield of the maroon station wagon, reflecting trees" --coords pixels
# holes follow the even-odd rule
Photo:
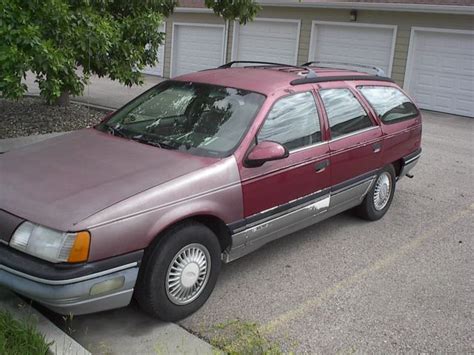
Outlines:
[[[166,81],[96,128],[164,149],[224,157],[240,143],[264,100],[241,89]]]

